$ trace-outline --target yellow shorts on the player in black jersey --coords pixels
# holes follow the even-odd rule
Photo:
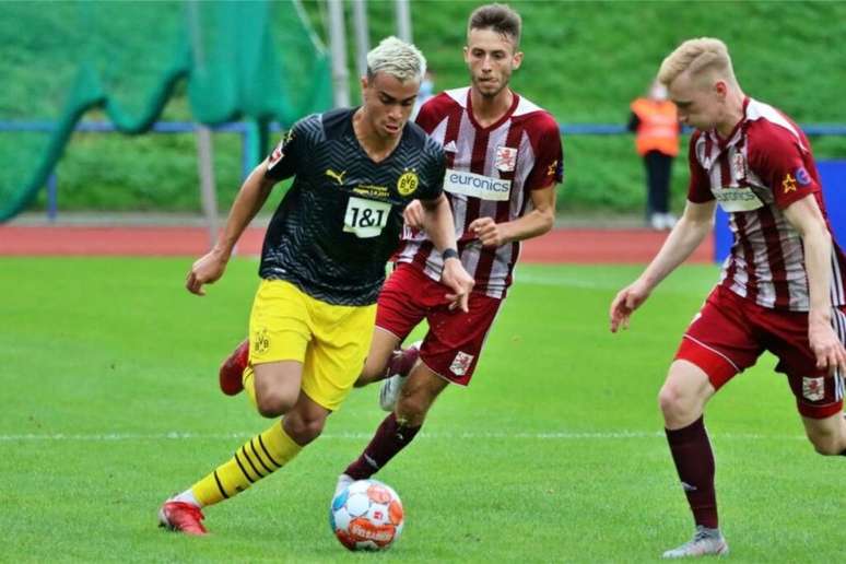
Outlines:
[[[290,282],[262,280],[249,318],[249,365],[303,363],[302,390],[334,411],[364,367],[376,321],[376,304],[331,305]]]

